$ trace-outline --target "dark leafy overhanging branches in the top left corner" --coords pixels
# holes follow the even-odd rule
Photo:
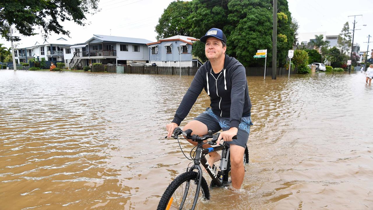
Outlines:
[[[95,13],[99,0],[1,0],[0,33],[7,41],[19,41],[18,36],[10,37],[10,27],[24,36],[31,36],[38,27],[44,38],[53,31],[69,35],[61,22],[74,21],[85,25],[85,15]],[[13,30],[14,31],[14,30]]]

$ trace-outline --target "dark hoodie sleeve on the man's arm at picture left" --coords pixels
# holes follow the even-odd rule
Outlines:
[[[181,121],[184,120],[188,115],[193,104],[197,100],[198,96],[202,92],[204,87],[203,68],[198,69],[195,74],[189,89],[186,91],[179,108],[176,110],[175,117],[172,122],[180,125]]]

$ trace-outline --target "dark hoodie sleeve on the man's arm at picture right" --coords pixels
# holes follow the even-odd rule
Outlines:
[[[242,112],[244,110],[245,90],[247,88],[246,72],[242,65],[231,71],[232,90],[231,90],[231,127],[238,128],[241,123]]]

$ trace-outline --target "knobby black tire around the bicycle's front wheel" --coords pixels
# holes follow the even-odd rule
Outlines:
[[[172,201],[171,201],[172,204],[171,204],[170,207],[173,207],[174,209],[179,209],[179,204],[178,204],[178,200],[177,200],[178,198],[176,198],[176,196],[179,196],[179,194],[180,194],[181,198],[179,197],[179,199],[182,199],[183,194],[184,194],[183,193],[184,190],[182,189],[181,191],[177,192],[176,194],[175,194],[175,191],[181,185],[183,185],[184,183],[187,183],[188,181],[189,181],[189,191],[191,191],[191,189],[190,189],[191,186],[194,187],[193,185],[195,185],[195,187],[197,187],[197,184],[194,183],[194,180],[197,179],[197,178],[198,178],[198,173],[197,172],[185,172],[185,173],[182,173],[181,175],[179,175],[178,177],[176,177],[176,179],[174,179],[170,183],[170,185],[167,187],[166,191],[164,191],[164,193],[161,197],[161,200],[159,201],[157,210],[166,210],[166,207],[169,204],[171,198],[175,198],[176,201],[174,201],[174,199],[172,199]],[[189,191],[187,192],[187,195],[190,195],[190,196],[188,196],[188,198],[190,198],[190,199],[188,200],[188,202],[187,202],[187,200],[185,200],[182,209],[191,209],[192,208],[194,197],[195,197],[195,189],[192,188],[192,192],[189,192]],[[207,186],[207,182],[204,179],[204,177],[202,177],[202,180],[201,180],[201,191],[202,191],[202,194],[200,193],[199,196],[202,195],[202,197],[209,200],[210,199],[210,191],[209,191],[209,187]],[[176,204],[177,207],[175,207],[175,204]],[[187,208],[185,208],[185,207],[187,207]],[[173,208],[170,208],[170,210],[172,210]]]

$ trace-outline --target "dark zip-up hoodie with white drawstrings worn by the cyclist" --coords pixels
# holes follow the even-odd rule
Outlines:
[[[191,86],[176,110],[173,123],[180,125],[202,89],[205,89],[207,95],[210,96],[210,106],[214,114],[229,118],[231,127],[238,128],[241,117],[250,116],[251,101],[245,67],[235,58],[225,55],[224,68],[217,78],[213,75],[210,61],[198,69]]]

